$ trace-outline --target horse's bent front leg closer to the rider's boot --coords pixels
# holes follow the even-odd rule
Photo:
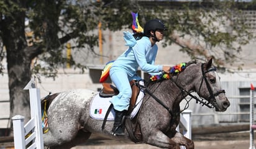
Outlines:
[[[150,130],[150,133],[147,135],[148,136],[143,136],[144,141],[147,144],[160,148],[180,149],[180,145],[178,143],[176,143],[174,140],[171,140],[167,135],[165,135],[160,130]]]

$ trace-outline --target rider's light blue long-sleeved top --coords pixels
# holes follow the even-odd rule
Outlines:
[[[114,61],[111,69],[123,68],[130,77],[136,74],[140,67],[142,71],[154,75],[163,70],[162,65],[154,65],[157,56],[157,45],[151,46],[149,37],[137,40],[134,47],[129,47],[121,56]]]

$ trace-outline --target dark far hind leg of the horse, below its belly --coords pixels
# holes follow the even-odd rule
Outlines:
[[[80,130],[76,137],[71,140],[70,142],[66,142],[63,145],[50,147],[50,149],[69,149],[71,147],[75,147],[76,145],[79,145],[81,143],[85,143],[86,140],[90,137],[91,132],[84,132],[83,130]]]

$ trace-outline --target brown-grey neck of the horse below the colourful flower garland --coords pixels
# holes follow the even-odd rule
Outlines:
[[[185,98],[187,93],[194,91],[194,84],[197,83],[198,76],[201,72],[198,65],[188,66],[179,75],[172,76],[172,80],[160,81],[158,83],[150,84],[148,87],[150,93],[165,102],[167,106],[178,110],[180,102]]]

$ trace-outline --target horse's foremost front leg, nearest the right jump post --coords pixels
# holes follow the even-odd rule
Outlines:
[[[193,140],[190,140],[190,139],[184,137],[181,133],[176,132],[176,131],[174,132],[174,134],[175,134],[174,136],[172,135],[173,137],[171,137],[171,135],[168,136],[168,137],[170,137],[171,140],[173,140],[173,142],[178,143],[179,145],[185,146],[186,149],[194,149]]]

